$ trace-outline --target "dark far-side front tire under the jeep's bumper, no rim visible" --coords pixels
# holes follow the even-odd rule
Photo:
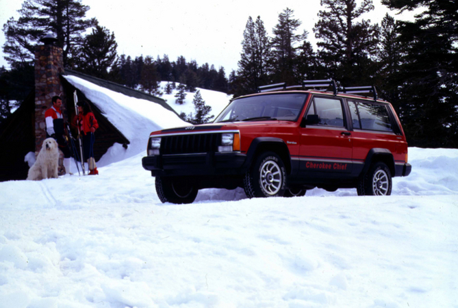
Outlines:
[[[188,204],[194,202],[199,190],[181,178],[156,177],[156,192],[162,203]]]

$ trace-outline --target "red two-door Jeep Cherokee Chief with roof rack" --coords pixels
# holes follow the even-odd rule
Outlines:
[[[260,87],[213,123],[154,131],[142,166],[160,200],[179,204],[203,188],[242,187],[249,198],[303,196],[316,187],[387,196],[392,177],[411,172],[392,105],[373,86],[338,89],[331,79]]]

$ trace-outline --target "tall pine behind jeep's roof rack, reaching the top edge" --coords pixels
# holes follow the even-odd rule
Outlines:
[[[377,53],[378,25],[361,16],[374,10],[372,0],[363,0],[357,8],[355,0],[321,0],[327,10],[320,10],[320,20],[314,32],[322,64],[329,76],[344,86],[367,84],[374,77],[374,57]]]

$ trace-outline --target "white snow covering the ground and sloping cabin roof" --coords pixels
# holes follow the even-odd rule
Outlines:
[[[458,307],[457,149],[409,148],[392,196],[162,204],[141,159],[152,130],[183,122],[66,78],[131,145],[97,176],[0,183],[0,308]]]

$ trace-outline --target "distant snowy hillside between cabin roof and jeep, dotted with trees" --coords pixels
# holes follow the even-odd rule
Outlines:
[[[194,95],[196,92],[186,92],[186,99],[183,103],[183,105],[179,105],[175,103],[177,98],[175,97],[175,94],[177,94],[177,90],[173,90],[173,93],[171,94],[165,94],[165,88],[167,85],[167,81],[162,81],[161,82],[161,91],[164,93],[162,95],[162,99],[165,99],[170,107],[177,112],[177,114],[181,114],[181,112],[184,112],[187,116],[192,112],[192,114],[195,113],[194,111],[194,105],[192,104],[192,100],[194,99]],[[178,83],[176,83],[178,86]],[[196,90],[201,91],[201,96],[202,99],[205,101],[206,105],[209,105],[212,107],[212,110],[210,112],[210,115],[218,116],[220,112],[229,104],[229,101],[232,97],[232,95],[227,95],[226,93],[223,92],[218,92],[218,91],[212,91],[212,90],[205,90],[201,88],[196,88]]]

